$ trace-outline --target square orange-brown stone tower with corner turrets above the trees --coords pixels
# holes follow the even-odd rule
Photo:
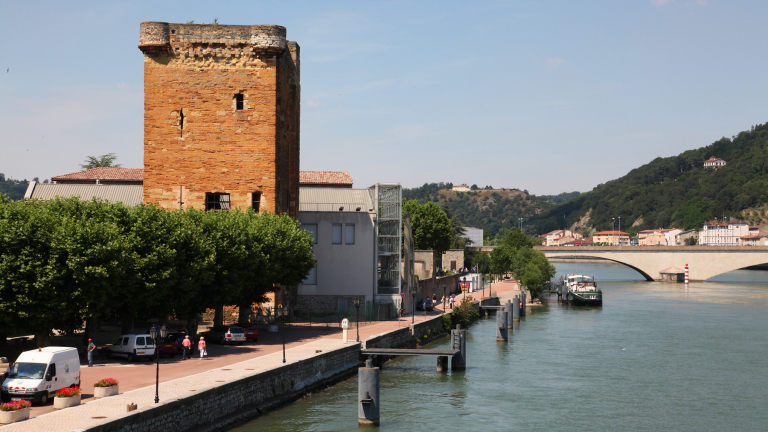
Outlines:
[[[299,45],[274,25],[144,22],[144,201],[298,215]]]

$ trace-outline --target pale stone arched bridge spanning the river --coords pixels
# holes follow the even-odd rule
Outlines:
[[[472,247],[470,247],[472,248]],[[493,247],[472,249],[490,251]],[[768,246],[539,246],[547,258],[598,258],[624,264],[647,280],[660,280],[669,269],[703,281],[722,273],[768,263]]]

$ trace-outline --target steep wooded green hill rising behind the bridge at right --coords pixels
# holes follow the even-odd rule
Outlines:
[[[724,159],[726,166],[717,171],[703,168],[710,156]],[[656,158],[527,224],[539,233],[566,223],[582,231],[605,230],[611,229],[611,218],[621,217],[622,231],[634,235],[643,229],[698,228],[706,219],[723,216],[760,223],[766,217],[766,203],[768,123],[707,147]]]

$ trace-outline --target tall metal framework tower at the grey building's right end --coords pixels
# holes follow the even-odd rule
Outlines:
[[[402,289],[400,261],[402,254],[403,189],[399,183],[376,183],[368,188],[378,224],[376,244],[378,277],[376,294],[399,295]]]

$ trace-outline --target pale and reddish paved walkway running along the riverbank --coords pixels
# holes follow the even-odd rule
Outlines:
[[[506,298],[512,298],[520,293],[514,280],[493,284],[489,290],[486,290],[485,295],[490,296],[491,291],[494,291],[499,296],[502,303],[506,302]],[[456,304],[460,303],[465,296],[472,296],[475,300],[479,300],[482,295],[482,291],[459,294],[456,296],[455,302]],[[350,323],[349,340],[356,340],[357,330],[360,333],[360,340],[363,341],[399,327],[407,327],[412,321],[418,323],[441,315],[443,314],[443,309],[443,305],[439,305],[436,310],[426,312],[426,314],[424,312],[417,312],[416,316],[400,317],[399,320],[378,321],[369,324],[361,323],[359,329],[354,327],[354,323]],[[450,312],[450,307],[446,311]],[[316,349],[327,350],[327,348],[318,348],[321,346],[340,347],[343,345],[341,333],[339,327],[325,326],[324,324],[317,323],[313,324],[312,327],[308,325],[288,326],[285,331],[286,359],[290,363],[316,355]],[[237,365],[238,367],[242,366],[242,369],[252,368],[262,372],[282,365],[282,342],[282,333],[260,332],[259,342],[256,344],[244,346],[218,346],[211,344],[208,347],[211,356],[204,360],[193,358],[182,361],[180,357],[161,359],[161,403],[162,400],[177,399],[179,395],[187,395],[193,389],[202,390],[200,380],[191,377],[213,374],[204,375],[206,377],[205,382],[213,382],[215,379],[210,381],[208,378],[220,378],[221,376],[217,371],[221,372],[221,369],[224,367],[232,368]],[[246,364],[248,366],[244,366]],[[30,420],[14,425],[2,426],[0,430],[3,432],[13,430],[62,430],[69,432],[108,421],[104,419],[91,419],[90,417],[107,416],[114,419],[125,416],[125,406],[131,402],[139,404],[139,409],[142,407],[147,408],[149,405],[154,405],[155,368],[154,362],[141,361],[134,363],[114,360],[101,361],[91,368],[86,364],[81,368],[83,387],[83,403],[81,406],[61,411],[54,411],[52,403],[44,407],[33,407],[30,413]],[[230,377],[230,379],[238,376],[232,371],[227,371],[225,375]],[[120,382],[120,395],[102,400],[94,399],[93,383],[102,378],[117,379]],[[191,381],[189,381],[190,378]],[[39,417],[39,419],[32,420],[34,417]],[[72,419],[72,421],[70,422],[66,419]],[[60,423],[67,426],[59,428],[58,425]],[[54,425],[56,425],[56,428],[51,428]]]

